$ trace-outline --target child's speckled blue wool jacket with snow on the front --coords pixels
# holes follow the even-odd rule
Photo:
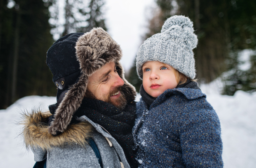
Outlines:
[[[220,122],[199,89],[168,89],[148,110],[141,98],[133,136],[141,168],[223,167]]]

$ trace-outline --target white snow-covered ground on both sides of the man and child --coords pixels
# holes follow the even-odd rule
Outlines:
[[[256,92],[237,91],[232,96],[219,94],[221,83],[201,85],[207,100],[215,108],[222,127],[224,168],[256,167]],[[137,100],[139,99],[139,95]],[[17,100],[6,110],[0,110],[0,168],[32,168],[32,152],[26,151],[17,137],[20,126],[15,125],[19,111],[55,103],[55,97],[30,96]]]

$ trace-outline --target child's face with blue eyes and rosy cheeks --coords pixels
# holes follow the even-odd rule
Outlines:
[[[158,97],[167,89],[176,88],[174,68],[159,61],[148,61],[142,66],[143,88],[152,97]]]

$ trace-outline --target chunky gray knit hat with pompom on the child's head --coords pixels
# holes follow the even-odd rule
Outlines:
[[[192,49],[198,39],[188,17],[172,16],[163,24],[161,33],[154,34],[137,52],[137,73],[142,79],[142,66],[147,61],[160,61],[171,65],[191,79],[195,78],[195,59]]]

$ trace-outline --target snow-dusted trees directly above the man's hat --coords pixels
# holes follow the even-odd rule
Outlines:
[[[105,19],[102,15],[103,0],[65,0],[64,5],[64,23],[61,23],[61,15],[59,13],[60,0],[47,0],[50,4],[50,14],[52,34],[57,34],[56,39],[60,36],[73,32],[87,32],[93,27],[105,26]]]

